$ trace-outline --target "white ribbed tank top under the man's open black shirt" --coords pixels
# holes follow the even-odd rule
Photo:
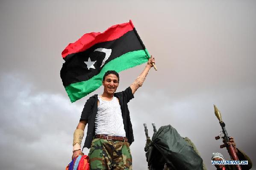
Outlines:
[[[124,122],[121,107],[116,97],[112,100],[102,100],[98,96],[99,105],[95,118],[95,134],[125,137]]]

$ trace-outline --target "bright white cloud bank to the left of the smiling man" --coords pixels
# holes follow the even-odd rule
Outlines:
[[[82,106],[59,94],[32,95],[33,84],[17,75],[1,75],[0,87],[2,168],[64,169]]]

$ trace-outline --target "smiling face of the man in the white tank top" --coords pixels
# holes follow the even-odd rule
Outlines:
[[[105,93],[114,94],[119,85],[118,77],[115,74],[109,74],[102,81],[102,85],[104,86]]]

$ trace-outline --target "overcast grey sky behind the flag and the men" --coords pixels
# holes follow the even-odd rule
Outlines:
[[[71,103],[59,75],[61,52],[85,33],[129,19],[159,69],[129,102],[133,169],[147,169],[143,123],[152,136],[152,122],[191,138],[209,170],[212,152],[230,159],[214,139],[221,127],[213,104],[255,163],[255,16],[254,0],[1,0],[0,170],[65,169],[83,105],[103,88]],[[118,90],[144,66],[121,72]]]

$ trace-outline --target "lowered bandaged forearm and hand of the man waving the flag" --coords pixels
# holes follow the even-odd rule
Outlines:
[[[80,120],[77,125],[77,129],[74,132],[72,159],[78,155],[82,155],[81,143],[82,143],[82,138],[84,136],[84,130],[85,130],[86,124],[87,124],[87,120]]]

